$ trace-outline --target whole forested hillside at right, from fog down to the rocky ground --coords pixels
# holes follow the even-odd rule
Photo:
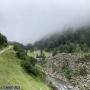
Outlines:
[[[34,45],[38,49],[59,52],[87,52],[90,47],[90,27],[70,28],[44,38]]]

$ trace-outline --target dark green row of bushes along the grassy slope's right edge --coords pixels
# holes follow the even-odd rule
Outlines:
[[[33,57],[27,56],[26,51],[20,45],[15,45],[14,50],[16,51],[17,57],[22,59],[22,67],[25,69],[25,71],[37,76],[38,69],[35,66],[37,60]]]

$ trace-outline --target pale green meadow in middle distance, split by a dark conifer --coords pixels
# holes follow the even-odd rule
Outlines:
[[[43,51],[43,53],[47,58],[52,56],[52,53],[50,52]],[[36,57],[37,55],[40,55],[40,50],[35,50],[33,52],[28,51],[28,55],[32,57]]]

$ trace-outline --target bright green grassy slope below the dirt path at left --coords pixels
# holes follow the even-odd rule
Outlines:
[[[20,90],[50,90],[40,79],[24,72],[12,49],[0,54],[0,85],[20,85]]]

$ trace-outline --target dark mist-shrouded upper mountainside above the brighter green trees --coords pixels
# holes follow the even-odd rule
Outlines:
[[[38,49],[53,50],[65,44],[86,44],[90,47],[90,27],[70,28],[62,32],[51,35],[49,38],[41,39],[35,43]]]

